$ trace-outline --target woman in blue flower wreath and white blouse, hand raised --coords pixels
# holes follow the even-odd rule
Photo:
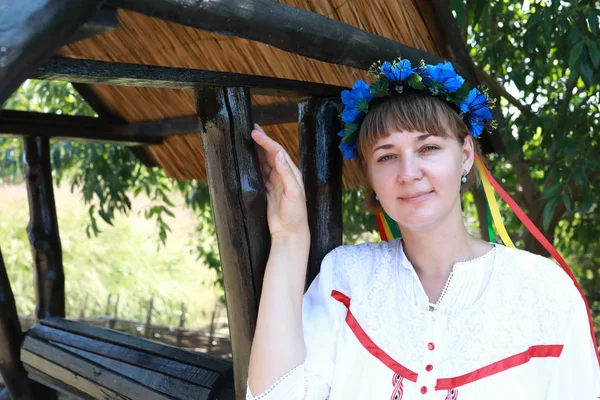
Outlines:
[[[247,399],[598,399],[586,304],[532,253],[472,237],[461,195],[474,180],[484,93],[449,63],[374,67],[342,95],[340,149],[358,158],[368,208],[402,239],[342,246],[303,296],[310,234],[302,177],[256,126],[272,247]]]

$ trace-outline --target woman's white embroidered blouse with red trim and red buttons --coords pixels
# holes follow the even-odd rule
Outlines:
[[[304,295],[306,360],[286,400],[597,400],[588,313],[544,257],[495,245],[453,266],[433,307],[400,240],[342,246]]]

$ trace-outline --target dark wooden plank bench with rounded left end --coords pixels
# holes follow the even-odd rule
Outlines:
[[[125,333],[47,318],[25,335],[32,380],[81,399],[233,399],[229,361]]]

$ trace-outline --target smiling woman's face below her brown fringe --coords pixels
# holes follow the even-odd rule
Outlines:
[[[368,177],[384,210],[398,224],[425,231],[460,213],[463,170],[473,165],[473,142],[423,132],[391,132],[365,154]]]

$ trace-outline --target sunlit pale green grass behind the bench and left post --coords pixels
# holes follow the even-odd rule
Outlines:
[[[208,325],[220,293],[213,287],[214,272],[192,253],[195,217],[190,211],[177,208],[176,218],[169,221],[173,232],[166,246],[159,246],[157,228],[141,212],[146,199],[135,199],[131,215],[117,218],[114,226],[102,223],[102,233],[88,238],[87,206],[80,196],[63,187],[55,188],[55,196],[69,316],[79,315],[86,296],[85,315],[105,315],[112,294],[113,310],[120,296],[119,318],[145,321],[154,295],[153,323],[178,325],[184,302],[186,327]],[[21,314],[35,309],[28,220],[24,185],[0,186],[0,248]]]

